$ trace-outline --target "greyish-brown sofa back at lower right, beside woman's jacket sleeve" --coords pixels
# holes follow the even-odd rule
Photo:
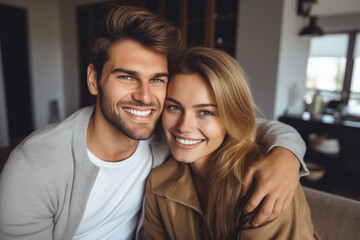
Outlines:
[[[323,240],[360,240],[360,201],[303,187],[315,231]]]

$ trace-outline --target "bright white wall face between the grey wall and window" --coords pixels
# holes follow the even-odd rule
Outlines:
[[[277,119],[285,109],[291,107],[299,112],[304,109],[306,65],[310,38],[299,37],[299,31],[307,25],[304,18],[294,14],[297,1],[284,1],[280,39],[279,68],[277,72],[274,113],[270,117]],[[289,106],[289,105],[292,106]]]

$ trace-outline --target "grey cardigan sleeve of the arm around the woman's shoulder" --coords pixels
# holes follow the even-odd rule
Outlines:
[[[304,162],[305,142],[293,127],[279,121],[257,118],[256,128],[256,142],[266,153],[269,153],[274,147],[286,148],[299,159],[300,176],[309,174]]]

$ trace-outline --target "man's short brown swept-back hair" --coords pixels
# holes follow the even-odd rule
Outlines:
[[[130,39],[166,54],[168,62],[182,46],[179,29],[162,17],[134,6],[111,5],[90,42],[90,62],[100,80],[108,49],[114,42]]]

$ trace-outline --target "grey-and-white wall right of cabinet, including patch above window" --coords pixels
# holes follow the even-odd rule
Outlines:
[[[305,91],[310,39],[298,36],[307,22],[297,15],[297,2],[239,0],[235,56],[248,74],[257,105],[268,119],[277,119],[291,97],[299,98]],[[312,13],[320,16],[319,25],[325,30],[359,29],[359,0],[319,0]]]

